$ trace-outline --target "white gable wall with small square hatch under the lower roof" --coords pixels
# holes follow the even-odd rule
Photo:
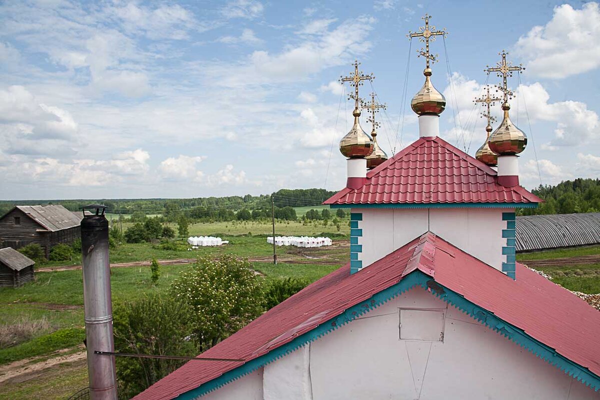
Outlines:
[[[409,312],[400,317],[402,311]],[[415,317],[419,313],[442,315]],[[421,314],[423,315],[423,314]],[[401,320],[402,318],[402,320]],[[433,323],[432,323],[433,322]],[[407,326],[413,338],[401,340]],[[436,332],[443,329],[443,337]],[[256,378],[263,377],[260,386]],[[598,399],[554,366],[424,289],[409,290],[212,399]],[[245,385],[245,388],[242,387]],[[251,396],[254,393],[254,397]],[[218,392],[217,392],[218,393]],[[214,396],[214,395],[213,395]],[[208,398],[208,397],[207,397]]]

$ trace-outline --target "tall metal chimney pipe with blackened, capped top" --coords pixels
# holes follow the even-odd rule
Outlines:
[[[114,356],[94,351],[115,351],[110,295],[109,222],[104,205],[83,208],[81,249],[83,260],[83,308],[88,351],[89,393],[92,400],[116,400],[116,367]],[[86,209],[95,214],[85,215]]]

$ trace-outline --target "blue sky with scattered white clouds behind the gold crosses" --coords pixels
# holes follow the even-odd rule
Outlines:
[[[374,74],[360,96],[387,105],[389,156],[415,141],[424,59],[406,34],[425,13],[449,32],[431,44],[442,138],[484,143],[473,99],[506,49],[526,67],[508,83],[521,184],[600,175],[598,3],[419,1],[3,1],[0,199],[339,190],[353,103],[338,79],[355,59]]]

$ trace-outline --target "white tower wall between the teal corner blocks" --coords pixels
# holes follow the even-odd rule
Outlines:
[[[508,208],[413,208],[353,209],[362,213],[363,268],[404,246],[427,231],[439,235],[461,250],[502,271],[502,229]]]

